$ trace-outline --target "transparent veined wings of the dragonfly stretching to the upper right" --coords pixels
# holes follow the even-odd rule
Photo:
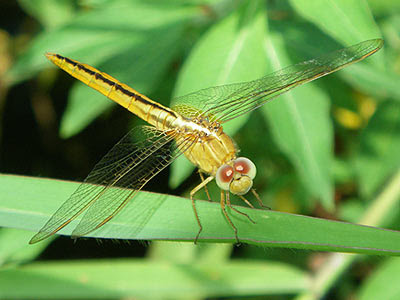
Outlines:
[[[173,109],[189,118],[204,116],[221,123],[227,122],[296,86],[358,62],[382,46],[382,39],[368,40],[286,67],[254,81],[203,89],[177,98]]]

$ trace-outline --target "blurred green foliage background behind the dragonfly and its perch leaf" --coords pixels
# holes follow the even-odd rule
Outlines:
[[[0,11],[0,171],[61,179],[84,178],[140,121],[55,70],[45,52],[93,65],[170,105],[191,91],[256,79],[383,38],[384,48],[366,61],[299,87],[224,129],[241,155],[256,163],[255,187],[273,210],[400,229],[398,0],[20,0],[0,2]],[[192,170],[178,161],[145,189],[188,195],[198,182]],[[29,198],[28,185],[15,189],[26,195],[28,212],[30,201],[52,205],[51,194]],[[218,199],[216,187],[210,190]],[[12,227],[23,227],[1,197],[0,212],[15,222]],[[292,232],[299,228],[294,223]],[[26,245],[30,235],[0,231],[0,298],[149,298],[157,278],[163,282],[159,298],[398,299],[400,294],[400,286],[391,283],[398,277],[396,259],[250,245],[89,248],[82,241],[71,247],[65,239],[42,252],[46,245]],[[400,244],[386,242],[393,248]],[[98,257],[107,247],[128,248],[121,256],[135,258],[118,263],[103,253],[106,259],[71,267],[61,259],[74,257],[65,249],[75,257]],[[146,257],[138,258],[143,253],[134,249]],[[49,258],[58,261],[46,262]],[[112,272],[118,275],[106,285]],[[62,293],[54,288],[65,282],[70,287]]]

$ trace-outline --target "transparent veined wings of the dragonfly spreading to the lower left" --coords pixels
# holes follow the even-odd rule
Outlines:
[[[83,236],[102,226],[193,142],[193,139],[181,138],[177,144],[175,132],[149,126],[132,129],[100,160],[30,243],[56,233],[85,210],[73,236]]]

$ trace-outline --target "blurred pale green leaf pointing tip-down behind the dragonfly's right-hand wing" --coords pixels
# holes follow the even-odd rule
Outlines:
[[[271,34],[266,48],[273,69],[293,64],[283,40]],[[295,165],[300,180],[310,193],[333,209],[333,129],[327,95],[313,83],[299,87],[268,103],[263,113],[271,124],[273,137]]]

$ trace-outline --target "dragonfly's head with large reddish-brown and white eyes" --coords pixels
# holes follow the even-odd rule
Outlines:
[[[235,195],[244,195],[253,186],[256,173],[256,166],[250,159],[238,157],[231,163],[219,167],[215,180],[220,189]]]

